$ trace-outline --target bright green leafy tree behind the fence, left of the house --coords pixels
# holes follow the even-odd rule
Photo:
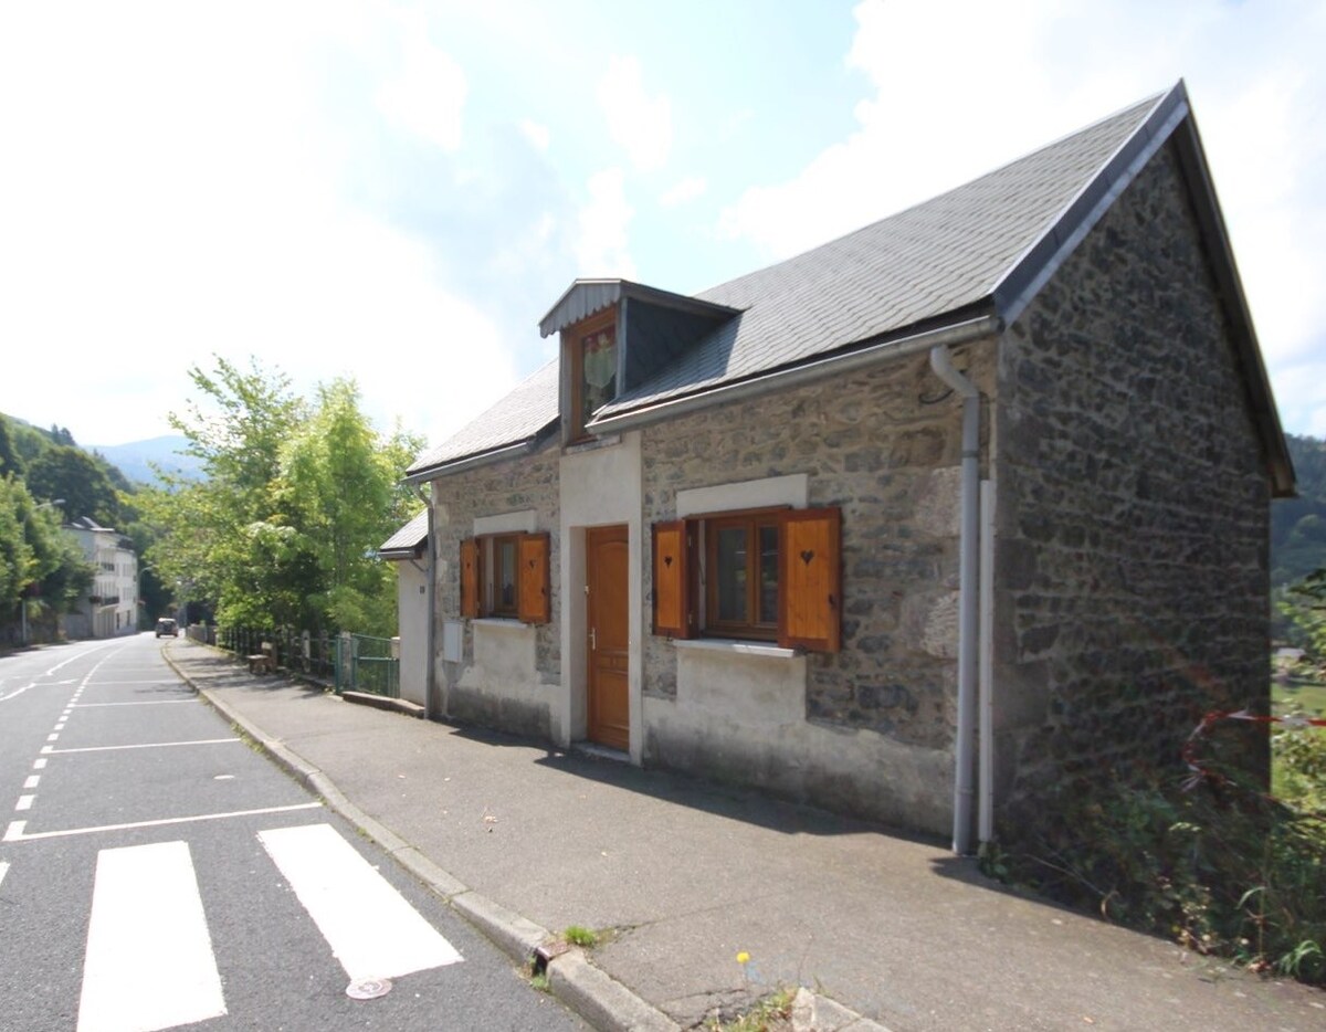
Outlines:
[[[190,375],[200,398],[171,422],[206,479],[166,475],[133,496],[154,574],[224,623],[394,633],[375,549],[418,507],[398,482],[422,442],[379,435],[350,379],[310,405],[252,362]]]

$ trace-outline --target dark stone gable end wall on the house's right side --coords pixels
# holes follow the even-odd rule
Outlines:
[[[997,783],[1180,764],[1268,704],[1269,482],[1168,149],[1000,348]],[[1264,735],[1249,736],[1265,771]]]

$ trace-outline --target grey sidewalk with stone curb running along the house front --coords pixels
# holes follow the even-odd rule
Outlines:
[[[1326,1028],[1326,994],[1005,891],[941,844],[163,651],[513,956],[610,930],[550,967],[599,1028],[691,1028],[792,986],[823,1029]]]

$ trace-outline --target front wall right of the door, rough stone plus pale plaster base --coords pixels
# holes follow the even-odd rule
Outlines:
[[[993,386],[989,345],[959,352],[956,363]],[[720,663],[703,655],[680,663],[683,647],[647,634],[647,760],[912,828],[947,828],[960,444],[961,402],[924,355],[644,431],[646,527],[676,517],[680,489],[805,474],[812,507],[842,508],[843,578],[842,650],[797,661],[805,688],[796,722],[727,727],[728,714],[715,711],[687,723],[693,699],[678,698],[679,669]],[[648,600],[648,564],[644,576]],[[739,711],[736,703],[729,708]]]

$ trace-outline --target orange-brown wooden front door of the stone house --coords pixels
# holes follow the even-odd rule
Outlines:
[[[586,657],[589,662],[589,740],[626,752],[631,715],[627,702],[630,641],[630,549],[626,527],[591,527],[586,545]]]

